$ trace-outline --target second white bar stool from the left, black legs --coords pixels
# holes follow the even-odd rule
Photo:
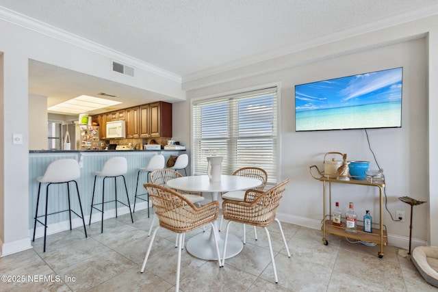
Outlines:
[[[107,202],[116,202],[116,217],[117,217],[117,202],[120,204],[124,204],[126,207],[129,208],[129,213],[131,214],[131,221],[134,222],[131,212],[131,204],[129,203],[129,195],[128,195],[128,188],[126,186],[126,180],[125,175],[128,172],[128,162],[125,157],[111,157],[105,162],[105,165],[103,165],[101,172],[94,172],[94,186],[93,186],[93,196],[91,199],[91,211],[90,211],[90,222],[88,225],[91,224],[91,215],[93,212],[93,209],[96,209],[97,211],[102,213],[102,222],[101,222],[101,233],[103,233],[103,212],[104,212],[104,204]],[[94,204],[94,190],[96,189],[96,178],[97,177],[103,177],[103,187],[102,187],[102,202]],[[121,176],[123,177],[123,183],[125,183],[125,191],[126,191],[126,198],[128,200],[128,204],[125,204],[124,202],[121,202],[117,199],[117,178]],[[105,202],[105,179],[107,178],[114,178],[114,191],[116,193],[115,200],[110,200]],[[96,205],[102,205],[102,209],[96,208],[94,206]]]

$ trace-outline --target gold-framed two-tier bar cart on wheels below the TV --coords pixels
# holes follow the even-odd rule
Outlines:
[[[383,178],[370,178],[368,180],[350,179],[349,181],[338,180],[329,175],[324,175],[316,165],[309,167],[310,174],[313,178],[322,182],[322,243],[328,245],[329,241],[326,239],[326,233],[333,235],[339,235],[342,237],[348,237],[350,239],[356,239],[361,241],[368,241],[380,245],[380,252],[378,257],[383,258],[383,245],[387,245],[387,231],[386,226],[383,225],[383,188],[385,187],[385,181]],[[345,222],[342,222],[342,226],[334,226],[331,217],[331,184],[332,183],[346,183],[350,185],[364,185],[367,187],[377,187],[379,192],[379,206],[380,206],[380,222],[379,228],[372,228],[372,233],[365,233],[361,230],[361,226],[358,225],[357,233],[351,234],[345,231]],[[329,187],[329,214],[326,214],[326,189]],[[377,225],[377,224],[373,224]]]

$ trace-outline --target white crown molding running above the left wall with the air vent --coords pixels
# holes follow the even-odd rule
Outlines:
[[[38,34],[43,34],[44,36],[49,36],[50,38],[66,42],[68,44],[73,44],[76,47],[104,55],[110,59],[117,59],[118,61],[129,64],[130,66],[134,66],[154,75],[181,83],[181,76],[179,75],[163,70],[162,68],[158,68],[157,66],[153,66],[146,62],[142,62],[140,59],[120,53],[119,51],[115,51],[101,44],[97,44],[96,42],[92,42],[86,38],[81,38],[75,34],[70,34],[68,31],[53,27],[52,25],[48,25],[47,23],[43,23],[41,21],[37,21],[34,18],[30,18],[29,16],[25,16],[24,14],[20,14],[2,6],[0,6],[0,20],[13,25],[18,25],[31,31],[36,31]]]

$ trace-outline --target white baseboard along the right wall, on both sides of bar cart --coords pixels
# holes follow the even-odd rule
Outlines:
[[[295,224],[298,226],[304,226],[307,228],[312,228],[317,230],[321,229],[321,220],[315,220],[307,217],[300,217],[300,216],[284,214],[284,213],[277,213],[276,217],[281,222],[286,222],[286,223]],[[391,233],[387,233],[387,236],[388,236],[389,245],[393,245],[398,248],[403,248],[404,250],[409,249],[409,237],[394,235]],[[416,239],[416,238],[411,239],[411,250],[413,250],[417,246],[424,246],[424,245],[428,246],[428,242],[422,239]]]

